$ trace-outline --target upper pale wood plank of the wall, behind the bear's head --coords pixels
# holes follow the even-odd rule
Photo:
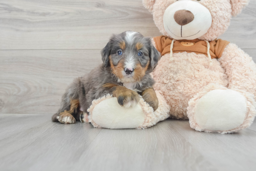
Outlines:
[[[102,49],[113,33],[159,36],[142,0],[1,0],[0,49]],[[256,48],[256,1],[220,38]]]

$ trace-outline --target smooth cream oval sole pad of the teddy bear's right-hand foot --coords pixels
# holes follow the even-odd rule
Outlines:
[[[195,104],[195,122],[209,131],[228,131],[243,124],[246,98],[229,89],[212,90]]]

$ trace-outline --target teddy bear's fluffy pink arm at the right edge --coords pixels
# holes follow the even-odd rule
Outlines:
[[[256,64],[247,53],[230,43],[219,62],[226,70],[229,89],[240,89],[254,95],[256,100]]]

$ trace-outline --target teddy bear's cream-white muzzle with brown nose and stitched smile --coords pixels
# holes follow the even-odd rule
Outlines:
[[[212,15],[198,2],[176,1],[165,9],[163,24],[172,38],[193,40],[207,33],[212,25]]]

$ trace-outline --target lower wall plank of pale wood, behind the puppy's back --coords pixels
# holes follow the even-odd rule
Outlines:
[[[101,63],[100,50],[2,50],[0,113],[54,114],[73,79]]]

